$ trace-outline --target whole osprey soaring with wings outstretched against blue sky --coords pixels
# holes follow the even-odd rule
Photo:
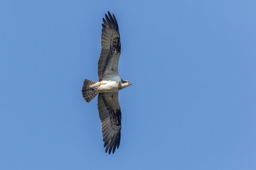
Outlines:
[[[106,19],[105,19],[106,18]],[[98,95],[97,108],[100,115],[102,136],[109,154],[114,154],[121,138],[121,109],[118,91],[132,85],[121,79],[118,73],[118,61],[121,53],[119,28],[114,14],[108,12],[102,18],[100,59],[98,61],[99,81],[85,79],[82,85],[82,97],[87,103]]]

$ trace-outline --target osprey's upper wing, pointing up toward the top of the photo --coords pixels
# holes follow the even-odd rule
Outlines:
[[[106,18],[106,20],[105,20]],[[101,47],[100,60],[98,62],[98,77],[107,79],[110,75],[119,75],[118,73],[118,61],[121,53],[121,43],[119,28],[117,20],[114,14],[111,16],[110,12],[105,14],[105,18],[102,18],[102,35],[101,35]]]

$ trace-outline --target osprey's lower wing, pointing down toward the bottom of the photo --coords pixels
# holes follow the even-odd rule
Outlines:
[[[102,125],[102,136],[105,152],[114,154],[121,139],[121,109],[118,101],[118,92],[101,93],[98,96],[98,111]]]

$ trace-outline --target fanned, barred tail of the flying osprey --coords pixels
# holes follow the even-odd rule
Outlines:
[[[85,79],[82,85],[82,97],[85,99],[87,103],[92,101],[93,98],[99,94],[97,92],[97,88],[100,86],[100,82],[98,81],[90,81]]]

